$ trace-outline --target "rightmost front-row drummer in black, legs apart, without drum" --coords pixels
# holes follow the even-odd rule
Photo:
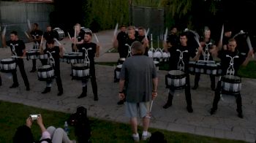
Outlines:
[[[247,54],[247,56],[245,56],[237,50],[236,46],[236,39],[229,39],[227,43],[227,50],[219,50],[217,53],[218,57],[221,59],[222,76],[227,74],[237,76],[239,67],[246,66],[249,62],[249,59],[252,57],[253,50],[249,50],[249,53]],[[217,83],[217,88],[215,89],[214,102],[210,112],[211,115],[213,115],[217,110],[221,93],[222,81],[219,80],[219,82]],[[238,117],[243,118],[244,115],[242,111],[240,91],[236,93],[236,104],[236,111],[238,112]]]

